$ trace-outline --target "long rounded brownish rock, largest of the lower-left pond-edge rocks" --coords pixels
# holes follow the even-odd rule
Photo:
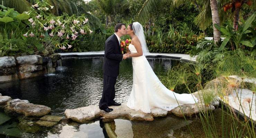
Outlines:
[[[43,105],[34,105],[33,103],[18,103],[13,107],[14,111],[25,116],[44,116],[47,115],[51,108]]]

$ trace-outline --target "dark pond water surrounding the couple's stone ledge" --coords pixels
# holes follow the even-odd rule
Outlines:
[[[148,61],[157,76],[179,64],[179,61],[170,59]],[[2,83],[0,93],[13,99],[26,99],[34,104],[51,107],[51,115],[64,116],[65,109],[98,105],[103,88],[102,65],[103,58],[63,58],[62,67],[54,74]],[[132,65],[131,59],[128,59],[122,61],[120,65],[116,101],[126,102],[131,87]],[[215,110],[213,115],[214,120],[217,120],[217,126],[221,126],[221,110]],[[229,116],[226,117],[231,120]],[[0,138],[192,138],[187,125],[190,126],[195,138],[205,137],[201,121],[197,117],[185,121],[183,118],[170,115],[166,118],[156,118],[152,122],[115,119],[110,123],[93,120],[87,124],[62,120],[48,128],[37,126],[33,118],[25,119],[28,126],[23,129],[26,129],[26,132],[21,131],[24,117],[10,119],[0,112]],[[218,128],[218,132],[221,134],[221,128]]]

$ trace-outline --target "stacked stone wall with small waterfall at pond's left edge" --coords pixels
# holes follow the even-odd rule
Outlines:
[[[49,57],[39,55],[0,57],[0,83],[41,76],[48,70],[54,72],[59,59],[61,59],[59,54]],[[49,62],[52,62],[50,68]]]

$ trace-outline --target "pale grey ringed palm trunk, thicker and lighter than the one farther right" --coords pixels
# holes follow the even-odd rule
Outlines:
[[[220,25],[220,17],[219,17],[219,11],[218,11],[218,5],[216,0],[210,0],[210,6],[212,11],[212,25],[213,25],[213,39],[214,43],[220,40],[220,31],[214,27],[214,24]]]

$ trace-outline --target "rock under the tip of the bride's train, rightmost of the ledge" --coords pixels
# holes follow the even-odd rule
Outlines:
[[[183,114],[185,116],[190,116],[191,117],[191,116],[193,116],[195,114],[198,114],[200,111],[205,112],[207,110],[214,110],[215,109],[214,106],[212,106],[212,105],[209,105],[209,106],[207,106],[205,108],[205,105],[203,103],[196,103],[196,104],[193,104],[193,105],[182,105],[180,107],[176,107],[176,108],[172,109],[172,113],[175,116],[183,118]],[[183,112],[183,114],[182,114],[182,112]]]

